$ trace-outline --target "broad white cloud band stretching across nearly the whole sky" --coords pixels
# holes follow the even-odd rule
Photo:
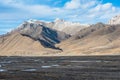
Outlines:
[[[0,4],[18,9],[16,12],[0,13],[0,18],[63,18],[70,21],[95,23],[105,21],[119,14],[120,8],[112,3],[102,4],[100,0],[71,0],[63,7],[51,7],[50,5],[27,4],[25,0],[1,0]]]

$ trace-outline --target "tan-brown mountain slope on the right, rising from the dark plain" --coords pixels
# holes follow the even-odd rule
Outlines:
[[[120,55],[120,25],[98,23],[57,44],[66,55]]]

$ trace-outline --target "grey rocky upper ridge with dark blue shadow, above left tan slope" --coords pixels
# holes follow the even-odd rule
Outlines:
[[[23,36],[28,36],[38,40],[45,47],[54,48],[54,44],[61,42],[70,37],[70,35],[48,28],[39,23],[24,22],[18,29],[13,32],[19,32]]]

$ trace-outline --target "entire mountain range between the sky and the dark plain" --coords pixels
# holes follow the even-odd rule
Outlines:
[[[108,24],[28,20],[0,36],[0,56],[120,55],[120,16]]]

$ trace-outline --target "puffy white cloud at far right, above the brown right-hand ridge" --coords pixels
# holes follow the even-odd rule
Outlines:
[[[99,19],[108,19],[112,16],[115,16],[120,13],[120,9],[114,7],[111,3],[98,4],[97,6],[91,8],[88,11],[88,17],[99,18]]]

